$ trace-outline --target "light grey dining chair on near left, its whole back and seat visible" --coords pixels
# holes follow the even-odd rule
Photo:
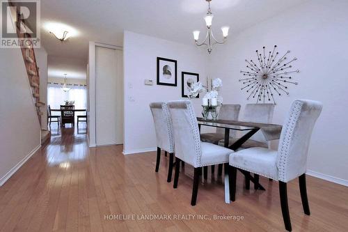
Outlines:
[[[226,164],[225,180],[227,180],[226,184],[228,184],[228,155],[233,153],[233,150],[200,141],[197,118],[189,100],[168,102],[167,105],[171,114],[175,144],[175,176],[173,187],[177,188],[180,162],[183,161],[192,165],[194,174],[191,206],[195,206],[202,167]]]

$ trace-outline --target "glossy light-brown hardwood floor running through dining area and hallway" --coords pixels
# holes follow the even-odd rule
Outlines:
[[[125,156],[122,146],[88,148],[80,129],[56,134],[52,128],[52,142],[0,187],[1,231],[285,231],[276,181],[260,178],[266,191],[245,190],[238,173],[236,201],[228,205],[223,180],[209,173],[191,206],[192,167],[185,165],[174,190],[173,180],[166,181],[169,156],[161,156],[155,173],[156,152]],[[298,181],[287,186],[293,231],[348,231],[348,187],[310,176],[307,184],[310,216]]]

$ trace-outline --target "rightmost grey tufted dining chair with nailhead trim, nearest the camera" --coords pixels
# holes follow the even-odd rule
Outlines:
[[[229,158],[230,200],[235,201],[237,169],[278,180],[285,229],[291,231],[287,183],[298,177],[303,211],[306,215],[310,215],[306,190],[306,164],[310,137],[321,111],[321,102],[295,100],[285,119],[278,150],[257,147],[232,153]]]

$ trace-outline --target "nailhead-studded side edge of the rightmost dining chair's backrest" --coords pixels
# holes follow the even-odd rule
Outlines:
[[[295,101],[292,105],[291,113],[288,118],[288,121],[283,127],[284,135],[283,138],[280,138],[280,149],[278,149],[278,179],[285,182],[286,180],[286,170],[287,170],[287,157],[290,153],[290,142],[294,135],[294,127],[296,121],[298,121],[301,114],[301,108],[303,102]]]

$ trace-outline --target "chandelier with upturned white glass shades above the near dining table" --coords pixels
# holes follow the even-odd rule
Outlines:
[[[205,0],[205,1],[208,2],[207,15],[205,15],[205,17],[204,17],[205,24],[207,25],[207,35],[205,36],[205,40],[203,40],[203,42],[198,42],[200,31],[193,31],[193,38],[194,38],[197,46],[206,45],[207,50],[210,54],[212,52],[213,45],[215,45],[216,43],[219,45],[222,45],[223,43],[226,42],[226,38],[228,36],[228,30],[230,29],[230,26],[221,26],[223,40],[221,42],[217,41],[214,38],[214,35],[212,32],[212,21],[213,21],[213,17],[214,17],[214,15],[212,14],[212,10],[210,10],[210,1],[212,1],[212,0]]]

